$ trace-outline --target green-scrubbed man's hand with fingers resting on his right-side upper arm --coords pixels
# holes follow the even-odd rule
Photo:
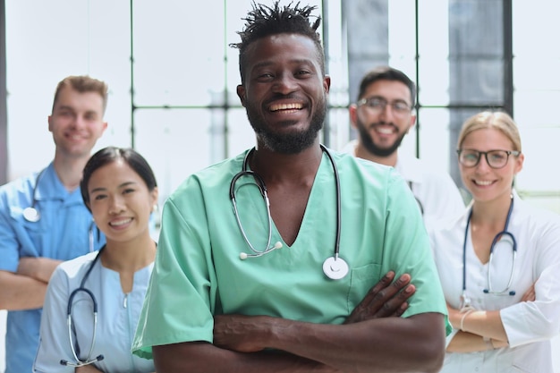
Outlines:
[[[389,271],[375,284],[364,299],[352,310],[344,324],[352,324],[371,318],[400,317],[408,309],[408,299],[416,292],[411,276],[404,274],[394,283],[395,272]]]

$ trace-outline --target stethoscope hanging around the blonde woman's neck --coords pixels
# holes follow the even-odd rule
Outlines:
[[[487,282],[488,287],[483,290],[484,293],[487,294],[495,294],[495,295],[515,295],[515,291],[512,290],[513,284],[513,271],[515,269],[515,258],[517,257],[517,242],[515,241],[515,237],[513,237],[513,233],[507,231],[509,226],[510,218],[512,217],[513,211],[513,195],[511,196],[511,202],[509,209],[507,210],[507,217],[505,218],[505,225],[504,230],[496,234],[494,239],[492,240],[492,244],[490,245],[490,254],[488,258],[488,275],[487,275]],[[464,241],[462,242],[462,295],[461,295],[461,309],[469,309],[471,308],[471,298],[467,295],[467,238],[469,234],[469,224],[471,223],[471,216],[472,216],[472,208],[469,212],[469,217],[467,218],[467,225],[465,227],[464,233]],[[510,270],[509,279],[505,288],[502,290],[496,291],[492,286],[492,260],[494,259],[494,248],[496,243],[503,237],[508,236],[512,240],[512,268]]]

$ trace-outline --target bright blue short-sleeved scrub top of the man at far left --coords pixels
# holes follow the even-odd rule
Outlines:
[[[38,176],[32,174],[0,187],[0,270],[16,272],[24,257],[68,260],[89,252],[92,217],[80,189],[66,191],[52,163]],[[41,215],[35,223],[23,217],[33,199]],[[105,238],[98,235],[97,228],[94,238],[93,249],[98,250]],[[41,309],[8,312],[5,373],[31,371],[40,318]]]

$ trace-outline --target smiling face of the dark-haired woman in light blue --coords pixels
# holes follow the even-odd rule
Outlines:
[[[91,174],[88,182],[91,213],[107,242],[127,242],[149,235],[149,216],[157,203],[157,188],[118,158]]]

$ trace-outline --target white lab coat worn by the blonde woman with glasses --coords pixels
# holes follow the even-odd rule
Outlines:
[[[445,301],[460,308],[462,253],[470,208],[459,217],[428,227],[434,259]],[[476,256],[470,234],[466,242],[466,291],[475,309],[500,309],[510,347],[485,352],[446,353],[441,372],[551,373],[550,339],[560,333],[560,216],[530,207],[513,192],[513,211],[508,232],[517,242],[517,258],[511,289],[515,295],[487,294],[488,266]],[[511,245],[498,245],[492,259],[493,289],[505,289],[513,262]],[[520,302],[531,284],[536,300]],[[457,330],[447,337],[451,341]]]

